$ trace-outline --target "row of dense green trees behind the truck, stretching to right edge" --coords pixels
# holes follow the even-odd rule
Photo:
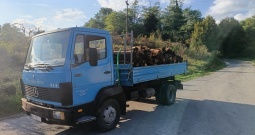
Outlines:
[[[154,33],[163,41],[180,42],[194,48],[205,45],[209,52],[216,51],[220,57],[255,57],[251,51],[255,49],[255,16],[242,22],[225,18],[217,24],[212,16],[202,18],[199,10],[183,9],[182,0],[171,0],[165,9],[159,5],[156,2],[150,7],[140,7],[137,0],[130,5],[128,27],[136,37],[149,37]],[[101,8],[84,27],[106,29],[112,34],[125,33],[126,9],[107,9],[108,14],[103,14],[105,10]]]

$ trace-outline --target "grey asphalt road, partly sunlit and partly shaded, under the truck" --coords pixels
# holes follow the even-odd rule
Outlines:
[[[0,121],[0,135],[255,135],[255,68],[229,61],[228,67],[184,83],[172,106],[154,99],[128,102],[118,127],[100,133],[93,123],[47,125],[28,116]]]

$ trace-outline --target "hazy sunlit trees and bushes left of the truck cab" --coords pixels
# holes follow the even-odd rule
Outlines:
[[[31,36],[43,31],[0,25],[0,117],[21,111],[19,79]],[[6,107],[8,106],[8,107]]]

